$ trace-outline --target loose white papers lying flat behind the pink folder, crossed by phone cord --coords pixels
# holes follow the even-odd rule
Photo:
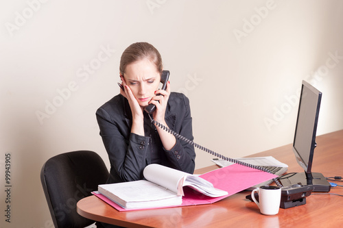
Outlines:
[[[279,167],[288,167],[287,164],[284,164],[282,162],[279,162],[279,160],[276,160],[272,156],[266,156],[266,157],[239,157],[235,158],[236,160],[239,160],[241,162],[246,162],[248,164],[252,164],[255,166],[279,166]],[[233,162],[228,162],[226,160],[213,158],[212,162],[217,164],[220,167],[230,166],[234,164]]]

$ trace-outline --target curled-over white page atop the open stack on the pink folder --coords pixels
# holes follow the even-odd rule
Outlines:
[[[175,194],[183,195],[183,192],[178,191],[182,190],[182,187],[178,188],[178,184],[183,177],[190,174],[159,164],[150,164],[144,168],[143,175],[148,181],[157,183],[159,186],[175,192]]]

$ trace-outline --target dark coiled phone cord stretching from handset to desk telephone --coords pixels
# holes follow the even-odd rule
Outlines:
[[[233,163],[236,163],[236,164],[240,164],[241,166],[246,166],[246,167],[249,167],[249,168],[255,168],[257,170],[261,170],[263,172],[267,172],[267,173],[272,173],[270,172],[270,170],[268,170],[267,168],[264,168],[262,166],[255,166],[255,165],[252,165],[252,164],[248,164],[246,162],[241,162],[239,160],[236,160],[236,159],[233,159],[233,158],[230,158],[230,157],[226,157],[224,155],[221,155],[220,153],[216,153],[215,151],[211,151],[210,149],[207,149],[206,147],[202,147],[200,144],[197,144],[196,142],[193,142],[192,140],[189,140],[188,138],[184,137],[184,136],[181,136],[180,134],[176,133],[175,131],[169,129],[168,127],[166,127],[165,125],[161,124],[161,123],[158,123],[157,121],[154,120],[154,118],[152,118],[149,114],[149,117],[150,117],[150,121],[152,124],[160,127],[161,129],[167,131],[169,134],[172,134],[173,136],[175,136],[176,138],[182,140],[182,141],[185,141],[187,142],[188,144],[191,144],[192,146],[202,150],[202,151],[205,151],[211,155],[214,155],[215,157],[219,157],[220,159],[222,160],[226,160],[228,162],[233,162]],[[276,177],[276,178],[273,178],[273,181],[276,183],[276,186],[279,186],[280,188],[282,188],[282,184],[280,183],[279,181],[279,178]]]

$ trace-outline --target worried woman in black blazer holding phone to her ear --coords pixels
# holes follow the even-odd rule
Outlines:
[[[107,183],[143,179],[143,169],[152,163],[193,173],[194,147],[153,125],[143,111],[156,105],[155,121],[193,140],[189,99],[170,92],[169,81],[166,90],[158,90],[160,53],[147,42],[134,43],[121,55],[119,71],[123,89],[96,112],[110,160]]]

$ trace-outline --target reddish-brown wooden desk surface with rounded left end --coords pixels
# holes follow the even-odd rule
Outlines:
[[[343,130],[318,136],[316,142],[312,171],[324,177],[343,176]],[[268,155],[288,164],[289,172],[303,172],[296,163],[291,144],[250,157]],[[215,165],[200,168],[196,173],[215,168]],[[275,216],[264,216],[255,203],[245,199],[249,193],[239,192],[211,205],[133,212],[118,212],[91,196],[80,200],[77,210],[86,218],[123,227],[338,227],[343,224],[343,197],[337,195],[313,193],[305,205],[280,209]],[[343,188],[331,188],[329,193],[343,194]]]

